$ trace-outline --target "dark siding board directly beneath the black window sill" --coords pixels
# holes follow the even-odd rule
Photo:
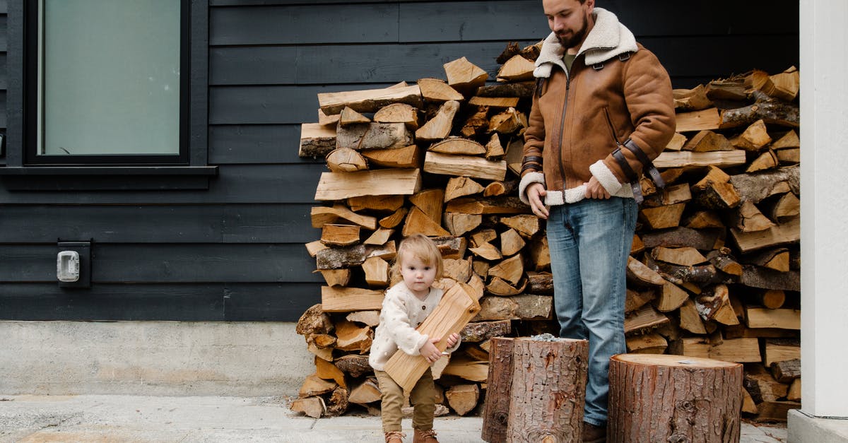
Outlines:
[[[315,188],[326,165],[222,165],[209,190],[135,191],[9,191],[0,186],[0,201],[22,205],[139,205],[139,204],[259,204],[313,203]]]

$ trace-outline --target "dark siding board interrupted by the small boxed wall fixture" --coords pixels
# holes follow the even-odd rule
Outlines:
[[[55,244],[0,244],[0,282],[55,282],[57,251]],[[95,243],[92,257],[92,285],[322,281],[303,244]]]

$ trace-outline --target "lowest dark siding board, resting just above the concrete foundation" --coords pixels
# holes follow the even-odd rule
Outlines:
[[[315,283],[0,284],[0,320],[296,322],[317,303]]]

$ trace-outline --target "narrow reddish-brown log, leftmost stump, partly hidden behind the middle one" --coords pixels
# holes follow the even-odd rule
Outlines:
[[[512,342],[513,339],[496,337],[490,343],[481,435],[489,443],[506,441],[512,395]]]

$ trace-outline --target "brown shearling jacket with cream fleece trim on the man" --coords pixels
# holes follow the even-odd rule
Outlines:
[[[524,134],[519,188],[525,201],[532,182],[563,191],[564,201],[554,205],[578,201],[583,199],[578,187],[593,175],[612,195],[632,197],[630,180],[611,153],[630,138],[654,160],[674,134],[667,71],[614,14],[595,8],[594,15],[595,25],[570,72],[553,33],[536,62],[537,91]],[[643,165],[636,155],[623,147],[621,153],[639,175]]]

